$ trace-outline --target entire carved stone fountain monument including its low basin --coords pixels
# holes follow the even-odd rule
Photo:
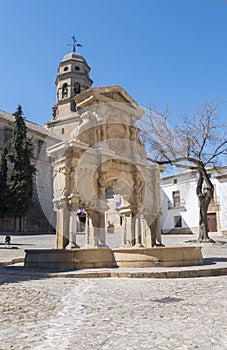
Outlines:
[[[26,266],[183,266],[202,262],[199,247],[163,247],[160,172],[151,165],[136,122],[143,110],[120,86],[89,88],[74,98],[68,139],[48,149],[53,162],[56,249],[29,250]],[[65,130],[64,130],[65,132]],[[120,197],[122,246],[107,246],[109,193]],[[77,212],[86,213],[85,246],[77,244]],[[159,245],[159,246],[156,246]],[[156,247],[155,247],[156,246]]]

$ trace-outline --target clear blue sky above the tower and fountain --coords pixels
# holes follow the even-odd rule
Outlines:
[[[223,100],[227,116],[227,2],[0,0],[0,109],[20,103],[44,124],[57,67],[75,34],[93,86],[121,85],[142,106],[172,115]]]

